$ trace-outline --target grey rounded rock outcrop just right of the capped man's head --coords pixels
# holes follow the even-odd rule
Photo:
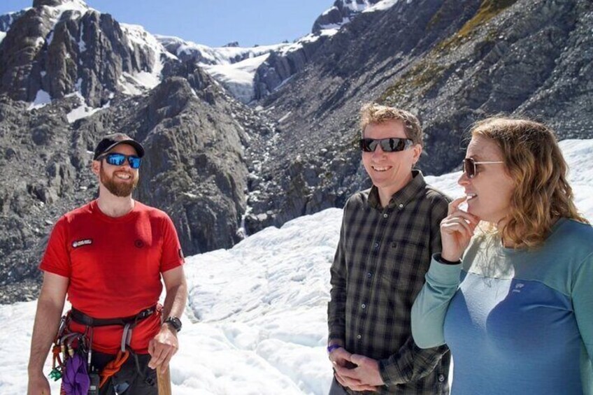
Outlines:
[[[202,71],[195,73],[211,84]],[[208,102],[204,89],[197,92],[186,78],[167,78],[120,115],[122,130],[135,130],[148,152],[138,199],[167,208],[186,254],[241,240],[247,189],[245,132],[230,117],[233,108],[222,99]]]

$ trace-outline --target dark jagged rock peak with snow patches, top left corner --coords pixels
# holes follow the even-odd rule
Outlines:
[[[0,92],[34,101],[38,92],[61,99],[78,90],[100,107],[122,90],[126,75],[154,71],[160,54],[124,34],[109,14],[84,3],[36,1],[13,22],[0,47]],[[78,3],[78,1],[74,1]]]

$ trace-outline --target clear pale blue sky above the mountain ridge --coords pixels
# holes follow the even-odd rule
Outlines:
[[[308,34],[334,0],[86,0],[118,22],[141,24],[153,34],[187,41],[241,46],[293,41]],[[30,7],[33,0],[0,0],[0,14]]]

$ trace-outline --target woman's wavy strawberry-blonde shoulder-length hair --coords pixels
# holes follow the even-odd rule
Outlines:
[[[530,120],[491,117],[476,122],[470,132],[498,145],[515,183],[508,221],[498,229],[503,240],[515,247],[537,247],[560,217],[588,223],[573,202],[568,165],[551,129]]]

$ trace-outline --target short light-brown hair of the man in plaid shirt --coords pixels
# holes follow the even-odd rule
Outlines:
[[[383,122],[399,121],[403,129],[414,144],[422,143],[422,127],[420,121],[412,113],[400,108],[381,106],[377,103],[366,103],[360,110],[360,129],[364,138],[364,129],[369,124],[381,124]]]

